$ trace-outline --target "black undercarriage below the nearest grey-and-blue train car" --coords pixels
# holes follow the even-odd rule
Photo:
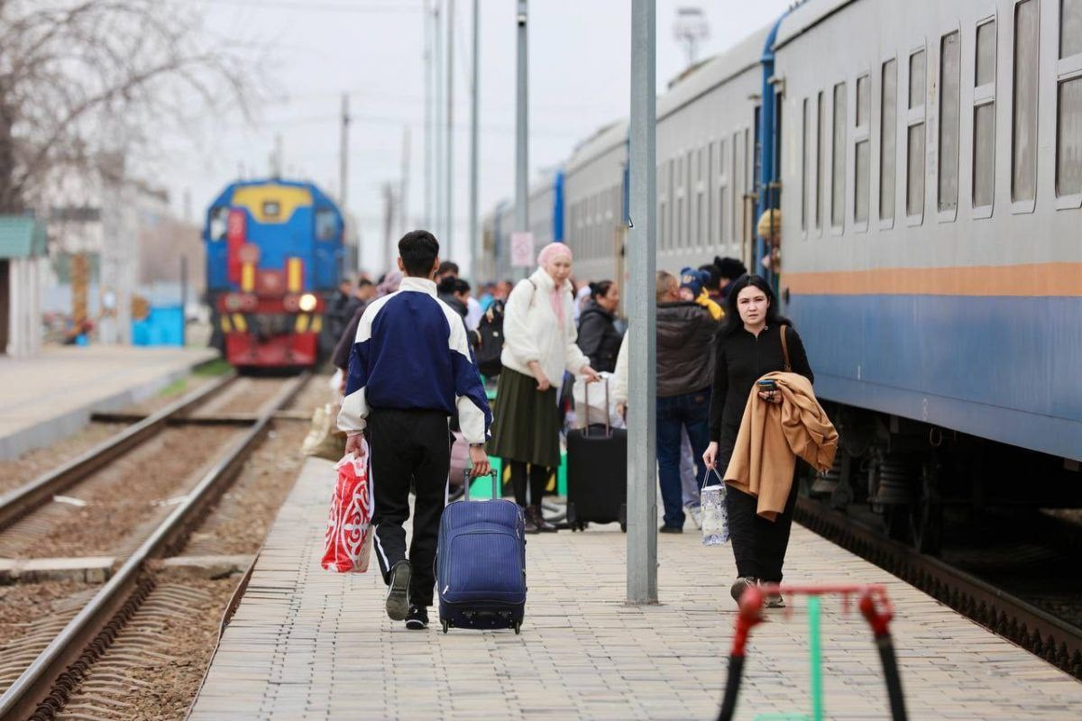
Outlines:
[[[908,418],[823,403],[841,443],[802,492],[837,510],[867,509],[888,536],[936,555],[945,529],[990,510],[1082,508],[1074,460]]]

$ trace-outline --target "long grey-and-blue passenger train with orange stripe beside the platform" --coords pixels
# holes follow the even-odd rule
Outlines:
[[[564,169],[580,278],[623,276],[626,132]],[[804,338],[812,493],[925,551],[951,505],[1082,505],[1082,0],[801,3],[659,97],[657,159],[658,267],[741,257]]]

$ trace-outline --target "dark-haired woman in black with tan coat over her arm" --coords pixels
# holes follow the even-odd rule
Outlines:
[[[786,370],[781,334],[786,334],[791,371],[809,382],[815,380],[801,336],[790,322],[778,315],[778,304],[770,284],[758,276],[743,276],[733,284],[726,298],[726,325],[714,344],[714,387],[710,403],[710,446],[702,459],[724,476],[737,432],[743,419],[744,406],[755,382],[767,373]],[[777,390],[758,391],[760,398],[780,403]],[[795,479],[794,479],[795,480]],[[774,521],[758,516],[754,496],[729,485],[725,505],[729,512],[733,555],[737,561],[737,580],[733,598],[756,583],[780,583],[781,566],[789,546],[796,505],[794,482],[786,510]],[[767,598],[768,607],[784,605],[781,596]]]

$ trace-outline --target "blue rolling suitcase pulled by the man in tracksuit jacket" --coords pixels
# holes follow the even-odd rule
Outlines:
[[[513,628],[526,612],[526,520],[513,500],[470,500],[465,495],[444,509],[436,551],[439,622],[449,628]]]

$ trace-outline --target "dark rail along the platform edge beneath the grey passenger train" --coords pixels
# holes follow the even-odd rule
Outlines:
[[[816,500],[799,498],[795,520],[1082,679],[1082,628],[949,563],[890,540]]]

